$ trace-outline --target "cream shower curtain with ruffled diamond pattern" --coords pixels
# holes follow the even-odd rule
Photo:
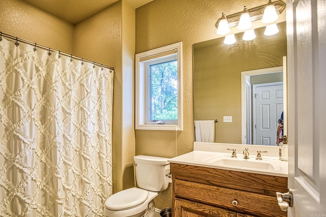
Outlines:
[[[0,216],[102,216],[113,70],[0,39]]]

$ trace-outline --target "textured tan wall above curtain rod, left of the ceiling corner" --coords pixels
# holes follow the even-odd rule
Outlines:
[[[0,31],[73,53],[73,25],[18,0],[0,1]]]

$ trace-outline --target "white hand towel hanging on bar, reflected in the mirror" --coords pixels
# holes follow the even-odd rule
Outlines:
[[[196,142],[214,142],[215,121],[195,120]]]

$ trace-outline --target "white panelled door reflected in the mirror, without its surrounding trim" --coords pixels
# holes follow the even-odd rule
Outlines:
[[[278,120],[283,112],[283,82],[253,85],[254,145],[276,145]]]

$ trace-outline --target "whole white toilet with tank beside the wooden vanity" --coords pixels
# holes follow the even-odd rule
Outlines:
[[[117,192],[105,201],[104,216],[155,216],[154,198],[172,182],[167,158],[134,156],[135,176],[139,188]]]

